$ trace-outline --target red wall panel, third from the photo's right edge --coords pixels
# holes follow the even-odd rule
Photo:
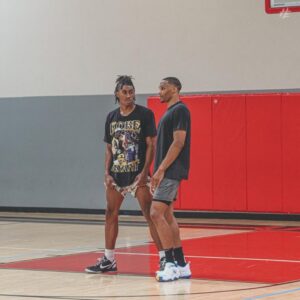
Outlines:
[[[212,97],[213,209],[246,211],[245,96]]]

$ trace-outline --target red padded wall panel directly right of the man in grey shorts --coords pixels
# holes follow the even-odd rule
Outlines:
[[[211,96],[182,97],[191,112],[191,166],[181,183],[181,209],[211,210],[212,126]]]

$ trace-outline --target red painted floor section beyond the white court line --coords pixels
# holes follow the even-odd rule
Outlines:
[[[254,231],[182,241],[187,256],[233,258],[300,259],[300,233],[293,231]],[[156,253],[155,246],[135,246],[122,252]]]

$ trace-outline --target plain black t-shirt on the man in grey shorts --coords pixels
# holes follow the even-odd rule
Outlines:
[[[154,170],[156,171],[173,143],[173,133],[176,130],[186,131],[185,144],[175,161],[168,167],[165,177],[169,179],[187,179],[190,168],[191,118],[190,111],[181,101],[176,102],[160,119],[158,124],[156,156]]]

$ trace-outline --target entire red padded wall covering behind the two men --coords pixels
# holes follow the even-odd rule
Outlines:
[[[300,94],[183,96],[191,170],[177,209],[300,213]],[[156,122],[166,110],[148,106]]]

